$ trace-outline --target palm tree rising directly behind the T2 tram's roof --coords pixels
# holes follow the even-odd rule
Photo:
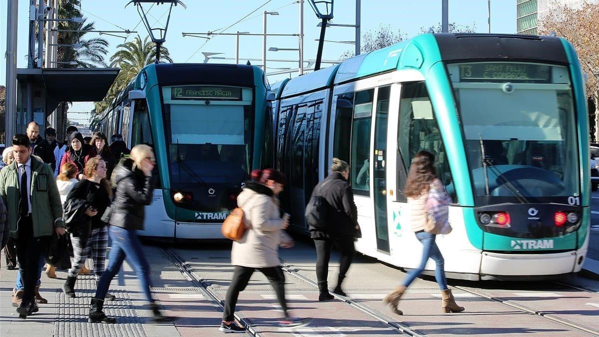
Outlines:
[[[137,35],[133,41],[119,44],[117,48],[119,50],[110,57],[110,67],[120,68],[119,76],[114,80],[104,100],[95,103],[93,110],[95,116],[92,117],[92,121],[99,118],[131,79],[137,76],[146,65],[156,61],[156,43],[150,41],[148,37],[141,41],[140,35]],[[164,46],[160,49],[160,59],[161,63],[173,62],[168,49]]]

